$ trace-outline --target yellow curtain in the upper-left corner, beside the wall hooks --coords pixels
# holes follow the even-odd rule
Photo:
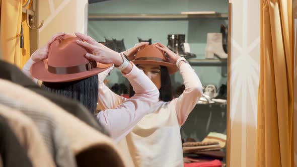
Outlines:
[[[23,2],[28,0],[1,1],[0,41],[3,60],[22,68],[30,58],[29,28],[26,15],[22,14]],[[27,7],[28,8],[28,7]],[[24,48],[20,48],[21,23],[24,31]]]

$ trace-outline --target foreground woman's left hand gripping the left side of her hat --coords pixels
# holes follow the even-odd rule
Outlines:
[[[48,58],[48,49],[49,49],[49,46],[51,45],[51,43],[57,38],[57,37],[60,37],[60,36],[63,36],[65,35],[65,33],[57,33],[55,34],[51,40],[49,40],[47,42],[46,45],[44,45],[43,47],[37,49],[31,56],[31,59],[35,62],[38,62],[38,61],[42,61],[44,59],[47,59]]]

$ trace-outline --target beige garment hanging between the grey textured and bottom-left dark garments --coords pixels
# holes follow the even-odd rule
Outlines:
[[[18,110],[0,105],[0,115],[7,119],[33,166],[56,166],[32,120]]]

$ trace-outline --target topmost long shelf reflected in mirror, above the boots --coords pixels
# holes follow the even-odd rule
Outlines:
[[[139,20],[139,19],[179,19],[195,18],[228,19],[228,14],[217,12],[182,12],[181,14],[89,14],[89,20]]]

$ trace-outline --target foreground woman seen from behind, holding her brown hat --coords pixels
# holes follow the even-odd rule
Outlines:
[[[116,109],[97,114],[99,122],[117,141],[147,114],[148,108],[158,101],[159,92],[141,70],[133,63],[125,63],[119,53],[87,35],[76,35],[55,35],[43,48],[33,53],[23,71],[42,80],[42,87],[48,91],[78,100],[94,112],[98,100],[97,74],[108,68],[106,65],[101,67],[96,61],[118,65],[136,94]],[[46,67],[42,60],[47,58]]]

